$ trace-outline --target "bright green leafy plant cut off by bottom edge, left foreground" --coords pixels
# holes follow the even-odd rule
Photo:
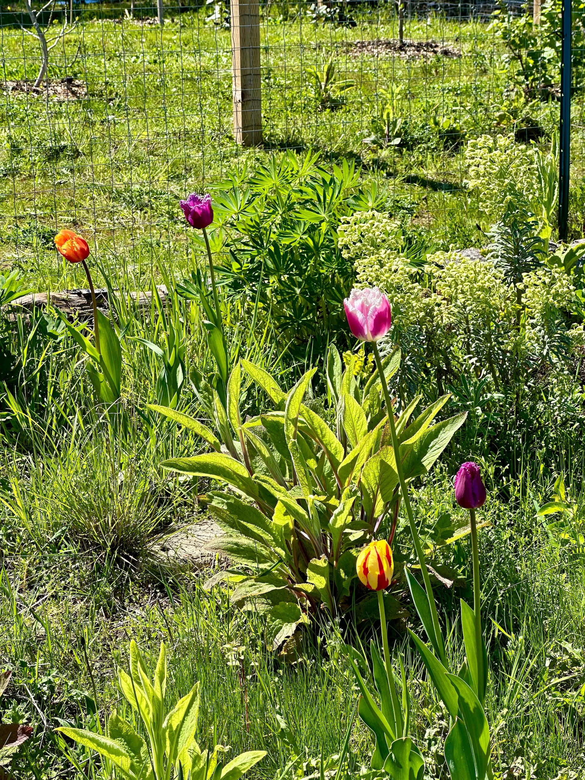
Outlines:
[[[264,750],[241,753],[225,766],[219,761],[221,746],[201,750],[195,741],[199,714],[200,690],[196,683],[189,693],[165,714],[167,661],[165,644],[161,644],[154,679],[149,679],[146,665],[136,642],[130,643],[130,673],[118,670],[120,690],[140,715],[148,741],[121,718],[116,710],[108,720],[107,734],[62,726],[56,729],[105,759],[106,767],[115,768],[129,780],[170,780],[173,770],[191,780],[239,780],[261,761]],[[111,773],[110,773],[111,774]]]

